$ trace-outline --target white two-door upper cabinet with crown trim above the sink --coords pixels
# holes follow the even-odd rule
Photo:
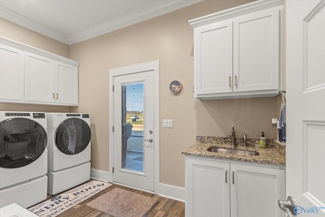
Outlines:
[[[269,97],[282,88],[282,0],[256,1],[190,20],[194,97]]]

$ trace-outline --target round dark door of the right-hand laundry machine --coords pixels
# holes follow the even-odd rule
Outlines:
[[[55,145],[65,154],[77,154],[89,144],[90,128],[80,118],[69,118],[60,123],[55,132]]]

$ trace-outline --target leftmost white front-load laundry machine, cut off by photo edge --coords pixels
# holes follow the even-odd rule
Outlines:
[[[47,198],[44,112],[0,111],[0,207],[30,207]]]

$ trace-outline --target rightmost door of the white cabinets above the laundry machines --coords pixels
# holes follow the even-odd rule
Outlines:
[[[55,100],[58,104],[78,105],[78,67],[56,62]]]

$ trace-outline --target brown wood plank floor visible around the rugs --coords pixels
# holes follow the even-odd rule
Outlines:
[[[101,191],[98,194],[95,194],[94,196],[92,196],[91,198],[75,205],[74,207],[68,209],[65,212],[62,212],[62,214],[57,215],[58,217],[72,217],[72,216],[80,216],[80,217],[111,217],[112,215],[106,214],[104,212],[101,212],[99,210],[93,209],[89,206],[87,206],[86,204],[91,201],[94,200],[96,198],[98,198],[99,196],[105,194],[108,191],[111,191],[114,188],[120,188],[120,189],[124,189],[127,191],[131,191],[131,192],[135,192],[141,195],[145,195],[148,197],[153,197],[156,198],[158,200],[157,203],[155,203],[151,209],[143,216],[145,217],[171,217],[171,216],[185,216],[185,203],[180,202],[180,201],[176,201],[176,200],[172,200],[169,198],[165,198],[165,197],[160,197],[158,195],[155,194],[151,194],[148,192],[144,192],[144,191],[140,191],[140,190],[136,190],[136,189],[132,189],[132,188],[127,188],[124,187],[122,185],[118,185],[118,184],[112,184],[110,187],[108,187],[107,189]],[[48,196],[48,199],[55,197],[56,195],[53,196]],[[125,216],[127,217],[127,216]]]

